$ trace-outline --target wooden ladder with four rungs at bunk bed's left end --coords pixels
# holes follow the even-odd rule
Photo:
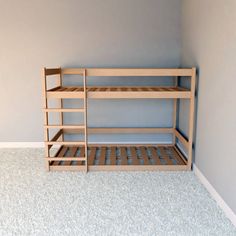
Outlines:
[[[59,86],[62,86],[62,72],[61,72],[61,68],[57,68],[57,69],[46,69],[44,68],[43,70],[43,94],[44,94],[44,141],[45,141],[45,161],[46,161],[46,168],[49,171],[50,170],[50,161],[52,160],[57,160],[57,157],[50,157],[50,148],[54,145],[54,144],[58,144],[58,145],[73,145],[74,148],[72,148],[74,151],[77,150],[76,147],[80,147],[80,150],[83,150],[83,146],[84,146],[84,150],[81,151],[82,155],[79,157],[74,156],[76,154],[76,152],[73,151],[73,154],[71,157],[67,158],[62,156],[61,158],[58,158],[58,161],[60,160],[64,160],[64,161],[79,161],[79,163],[81,163],[82,165],[82,161],[85,162],[84,165],[84,170],[85,172],[88,171],[88,136],[87,136],[87,84],[86,84],[86,70],[82,70],[81,73],[79,74],[80,76],[83,76],[83,90],[80,91],[80,93],[83,93],[83,108],[63,108],[63,99],[59,98],[60,101],[60,108],[49,108],[48,107],[48,99],[47,99],[47,76],[48,75],[59,75]],[[79,98],[81,99],[81,98]],[[60,114],[60,124],[58,125],[49,125],[49,121],[48,121],[48,113],[50,112],[58,112]],[[80,124],[80,125],[65,125],[64,124],[64,117],[63,117],[63,112],[80,112],[80,113],[84,113],[84,123]],[[60,129],[60,131],[54,136],[54,138],[52,138],[51,140],[49,140],[49,130],[50,129]],[[65,141],[64,140],[64,129],[66,130],[73,130],[73,129],[80,129],[83,130],[84,134],[84,141],[80,140],[80,141]],[[58,141],[59,137],[62,137],[61,141]],[[82,147],[81,147],[82,146]],[[67,148],[64,146],[64,150],[67,150]],[[83,169],[83,168],[82,168]]]

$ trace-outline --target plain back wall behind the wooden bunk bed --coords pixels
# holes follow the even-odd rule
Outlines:
[[[0,141],[43,141],[44,66],[179,66],[180,2],[0,0]],[[90,123],[129,125],[139,114],[136,125],[161,125],[163,106],[155,104],[127,102],[122,108],[120,103],[97,102],[90,106]],[[115,105],[125,114],[122,122]],[[98,120],[104,106],[111,111]],[[164,108],[164,125],[170,125],[170,107]]]

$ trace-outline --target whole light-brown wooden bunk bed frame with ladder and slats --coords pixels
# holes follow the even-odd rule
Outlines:
[[[58,76],[56,87],[48,88],[48,79]],[[63,86],[65,75],[78,75],[83,86]],[[192,137],[194,126],[195,68],[158,69],[158,68],[44,68],[44,133],[45,163],[49,170],[191,170]],[[174,86],[93,86],[86,85],[88,76],[156,76],[173,77]],[[179,78],[191,80],[190,89],[179,86]],[[83,100],[82,108],[65,108],[63,99]],[[59,107],[49,107],[49,99],[58,99]],[[170,128],[93,128],[87,126],[88,99],[174,99],[173,125]],[[176,127],[177,100],[188,99],[189,127],[186,138]],[[64,112],[80,112],[84,115],[81,125],[65,125]],[[49,113],[58,113],[59,124],[49,124]],[[50,138],[50,131],[54,132]],[[172,134],[171,144],[91,144],[89,134],[116,133],[163,133]],[[84,140],[65,140],[66,134],[83,134]],[[182,147],[186,152],[182,151]],[[55,153],[54,147],[57,148]],[[54,152],[53,152],[54,150]]]

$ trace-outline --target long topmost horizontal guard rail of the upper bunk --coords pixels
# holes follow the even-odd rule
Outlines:
[[[86,76],[191,76],[192,68],[64,68],[62,74],[83,74]]]

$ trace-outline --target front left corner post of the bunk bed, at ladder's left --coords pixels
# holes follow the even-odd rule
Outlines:
[[[47,104],[47,77],[46,68],[42,71],[42,84],[43,84],[43,108],[44,108],[44,126],[48,125],[48,112],[45,110],[48,108]],[[49,131],[48,128],[44,127],[44,142],[49,141]],[[49,157],[49,146],[45,143],[45,164],[46,170],[49,171],[49,161],[46,158]]]

